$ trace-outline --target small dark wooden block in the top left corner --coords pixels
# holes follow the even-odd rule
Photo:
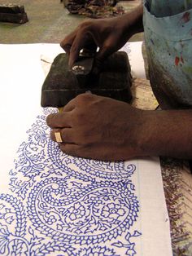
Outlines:
[[[0,21],[24,24],[28,21],[28,16],[24,11],[24,6],[4,4],[0,5]]]

